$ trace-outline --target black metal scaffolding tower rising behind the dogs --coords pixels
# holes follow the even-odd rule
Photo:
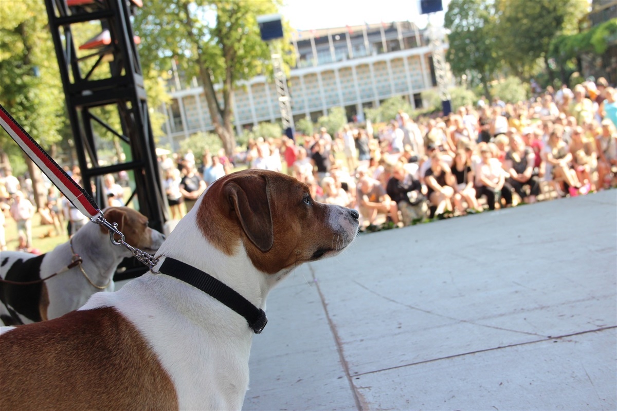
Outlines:
[[[162,231],[165,196],[136,49],[139,38],[130,22],[141,0],[45,0],[45,4],[83,188],[105,208],[102,176],[120,173],[131,189],[126,204]],[[94,38],[76,38],[93,28],[101,31]],[[102,153],[110,151],[115,155],[104,158]]]

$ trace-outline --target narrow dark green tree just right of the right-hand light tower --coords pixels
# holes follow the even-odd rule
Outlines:
[[[445,57],[452,73],[466,75],[472,84],[482,84],[487,95],[489,83],[502,64],[494,5],[484,0],[453,1],[444,18],[444,26],[451,32]]]

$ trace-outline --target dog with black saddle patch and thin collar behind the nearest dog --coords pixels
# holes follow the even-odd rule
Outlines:
[[[105,219],[116,222],[126,243],[147,253],[155,253],[164,235],[148,227],[148,219],[128,207],[104,211]],[[82,262],[68,268],[77,254]],[[5,325],[30,324],[60,317],[83,306],[97,291],[114,291],[112,277],[131,252],[109,241],[104,227],[88,222],[70,242],[49,253],[2,251],[0,278],[12,282],[34,282],[54,273],[43,283],[14,285],[0,282],[0,319]],[[68,268],[68,269],[67,269]]]

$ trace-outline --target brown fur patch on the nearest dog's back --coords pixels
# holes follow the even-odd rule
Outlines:
[[[172,379],[114,308],[73,311],[0,337],[4,410],[172,410]]]

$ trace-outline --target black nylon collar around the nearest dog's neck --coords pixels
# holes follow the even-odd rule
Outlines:
[[[233,288],[215,279],[212,275],[189,266],[186,262],[167,257],[161,264],[159,272],[193,285],[193,287],[218,299],[218,301],[242,315],[255,334],[261,333],[268,324],[268,318],[262,309],[255,307]]]

